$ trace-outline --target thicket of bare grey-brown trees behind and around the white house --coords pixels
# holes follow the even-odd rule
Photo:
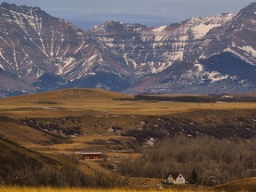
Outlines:
[[[209,136],[175,136],[139,150],[143,156],[120,163],[119,172],[135,177],[164,179],[168,172],[182,172],[192,183],[214,186],[231,180],[256,176],[256,138],[217,139]]]

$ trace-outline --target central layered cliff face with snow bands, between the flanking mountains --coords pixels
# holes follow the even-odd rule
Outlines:
[[[195,17],[180,23],[159,28],[140,24],[106,21],[92,28],[94,36],[121,54],[127,65],[141,74],[158,73],[184,60],[187,47],[202,38],[210,29],[230,20],[234,15]]]

